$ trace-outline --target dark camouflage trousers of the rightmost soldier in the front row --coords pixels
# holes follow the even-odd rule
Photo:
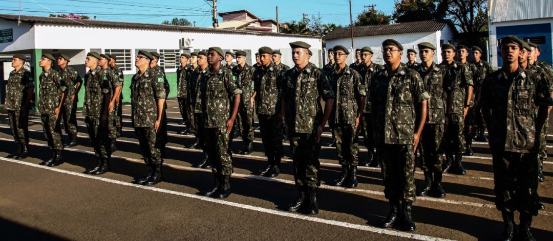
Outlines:
[[[495,207],[538,215],[538,153],[492,150]]]

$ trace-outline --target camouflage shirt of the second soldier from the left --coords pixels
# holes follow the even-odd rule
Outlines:
[[[51,68],[42,72],[39,79],[38,113],[52,115],[60,104],[61,93],[66,92],[67,87],[60,74]]]

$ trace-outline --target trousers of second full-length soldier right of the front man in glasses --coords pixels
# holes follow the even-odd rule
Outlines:
[[[465,121],[463,114],[451,114],[444,134],[443,147],[446,155],[465,153]]]

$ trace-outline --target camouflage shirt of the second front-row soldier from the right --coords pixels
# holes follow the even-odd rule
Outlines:
[[[430,99],[419,73],[404,63],[391,76],[383,69],[373,76],[368,98],[376,111],[377,143],[413,144],[415,104]]]

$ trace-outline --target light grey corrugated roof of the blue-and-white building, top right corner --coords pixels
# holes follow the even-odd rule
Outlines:
[[[553,18],[553,0],[491,0],[489,9],[493,23]]]

